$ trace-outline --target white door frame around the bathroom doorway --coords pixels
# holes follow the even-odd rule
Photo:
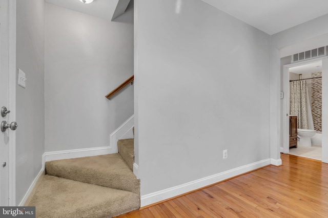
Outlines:
[[[324,56],[324,57],[320,57],[320,58],[314,58],[314,59],[310,59],[310,60],[304,60],[304,61],[299,61],[296,63],[292,63],[292,64],[286,64],[283,65],[283,92],[284,92],[284,96],[283,96],[283,123],[282,123],[282,127],[283,127],[283,149],[282,152],[284,154],[289,154],[289,109],[290,109],[290,102],[289,102],[289,92],[290,92],[290,86],[289,86],[289,68],[291,67],[295,67],[295,66],[301,66],[304,64],[308,64],[311,62],[315,62],[315,61],[322,61],[324,59],[328,58],[328,56]],[[323,70],[323,67],[322,67]],[[323,110],[323,108],[322,108]],[[322,133],[323,134],[323,133]],[[322,144],[323,146],[323,144]],[[323,157],[322,157],[323,159]]]

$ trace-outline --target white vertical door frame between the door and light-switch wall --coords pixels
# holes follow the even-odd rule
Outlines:
[[[10,117],[16,120],[16,0],[8,1],[8,109]],[[16,131],[9,131],[9,206],[16,206]]]

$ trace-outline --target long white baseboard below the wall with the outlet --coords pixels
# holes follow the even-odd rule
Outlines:
[[[188,182],[182,185],[178,185],[175,187],[167,188],[164,190],[156,191],[153,193],[149,193],[147,195],[143,195],[140,198],[141,207],[145,207],[150,204],[154,204],[163,200],[167,200],[183,193],[187,193],[211,184],[215,184],[217,182],[221,182],[223,180],[253,171],[254,169],[261,168],[263,166],[270,165],[272,162],[271,159],[261,160],[255,163],[251,163],[248,165],[240,166],[234,169],[230,169],[229,171],[222,172],[219,174],[215,174],[212,176],[204,177],[202,179],[197,179],[192,182]],[[142,181],[141,181],[142,182]]]

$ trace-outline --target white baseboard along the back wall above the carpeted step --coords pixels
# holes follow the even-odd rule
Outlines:
[[[45,167],[46,161],[70,159],[78,157],[96,156],[117,153],[109,147],[98,147],[89,149],[74,149],[66,151],[45,152],[42,155],[42,165]]]

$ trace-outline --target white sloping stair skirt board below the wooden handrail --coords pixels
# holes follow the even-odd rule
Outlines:
[[[114,153],[117,153],[117,141],[118,139],[124,138],[124,136],[131,135],[132,128],[134,126],[134,114],[126,121],[124,124],[122,124],[120,127],[118,127],[109,137],[109,147],[115,151]],[[132,133],[133,136],[133,133]],[[133,137],[132,137],[133,138]]]

